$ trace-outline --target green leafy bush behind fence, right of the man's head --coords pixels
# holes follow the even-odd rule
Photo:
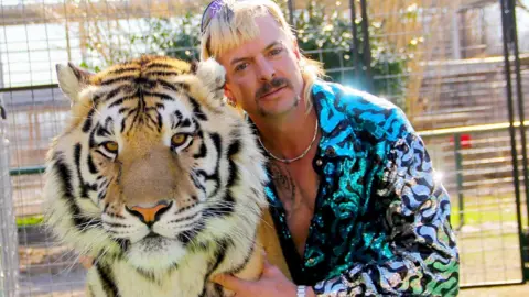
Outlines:
[[[365,53],[363,48],[363,22],[357,19],[357,67],[355,68],[353,48],[353,28],[349,12],[338,9],[328,13],[324,4],[311,1],[306,9],[296,12],[295,28],[300,48],[314,59],[323,62],[327,75],[334,81],[358,89],[371,91],[392,99],[404,108],[406,63],[408,54],[401,54],[384,40],[384,26],[378,22],[368,25],[373,88],[365,76]],[[357,15],[358,18],[358,15]],[[357,68],[360,69],[357,69]]]

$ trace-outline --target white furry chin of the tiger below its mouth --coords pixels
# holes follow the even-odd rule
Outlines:
[[[185,255],[184,245],[162,237],[145,238],[130,245],[128,262],[142,271],[159,271],[173,267]]]

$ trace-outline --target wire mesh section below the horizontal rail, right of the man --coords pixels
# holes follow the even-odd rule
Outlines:
[[[457,234],[462,285],[521,282],[521,246],[507,129],[424,139],[451,195],[451,222]]]

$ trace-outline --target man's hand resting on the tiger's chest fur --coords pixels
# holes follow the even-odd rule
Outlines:
[[[261,278],[258,280],[246,280],[228,274],[219,274],[212,277],[212,280],[223,287],[235,292],[237,297],[295,297],[296,286],[290,282],[281,271],[264,261]],[[307,297],[316,295],[311,287],[306,288]]]

